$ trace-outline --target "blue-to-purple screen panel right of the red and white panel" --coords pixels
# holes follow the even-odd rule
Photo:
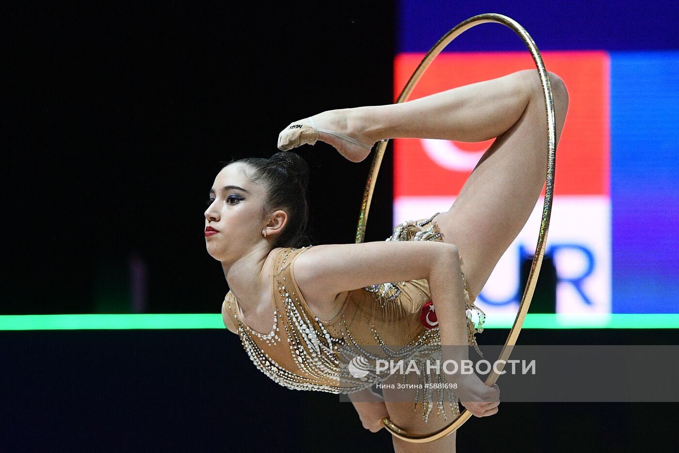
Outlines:
[[[610,52],[612,312],[679,312],[679,52]]]

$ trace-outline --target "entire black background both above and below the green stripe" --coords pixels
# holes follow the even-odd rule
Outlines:
[[[124,294],[132,253],[147,263],[148,312],[219,313],[227,286],[202,231],[221,162],[274,154],[293,120],[392,101],[390,1],[14,3],[0,20],[0,314],[94,312],[101,291]],[[298,151],[312,167],[315,244],[352,242],[370,158]],[[367,240],[390,234],[389,151]],[[677,340],[650,329],[521,338]],[[392,451],[337,396],[268,380],[225,329],[7,331],[0,346],[0,451]],[[665,451],[679,443],[675,409],[505,403],[465,424],[458,451]]]

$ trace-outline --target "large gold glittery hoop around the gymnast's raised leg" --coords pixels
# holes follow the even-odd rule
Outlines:
[[[547,239],[547,231],[549,230],[549,217],[551,215],[551,204],[552,196],[554,190],[554,168],[555,168],[555,151],[556,151],[556,129],[555,129],[555,114],[554,114],[554,103],[552,99],[551,86],[549,84],[549,77],[547,76],[547,69],[545,69],[545,64],[543,63],[542,56],[538,50],[532,37],[528,34],[524,27],[518,24],[515,20],[502,16],[502,14],[479,14],[478,16],[473,16],[464,22],[456,25],[451,31],[446,33],[439,41],[427,52],[427,54],[422,59],[422,62],[415,70],[413,75],[410,76],[410,80],[403,88],[401,95],[399,95],[398,102],[405,102],[409,97],[415,85],[424,74],[426,68],[434,61],[434,58],[447,46],[453,39],[458,37],[462,32],[471,29],[479,24],[484,24],[486,22],[496,22],[498,24],[503,24],[512,29],[521,39],[523,39],[524,44],[530,50],[530,54],[533,57],[535,65],[538,69],[538,74],[540,75],[540,81],[543,86],[543,94],[545,95],[545,112],[547,114],[547,187],[545,188],[545,204],[543,205],[543,218],[540,222],[540,234],[538,235],[538,244],[535,249],[535,255],[533,256],[533,263],[530,268],[530,273],[528,274],[528,282],[526,282],[526,288],[524,288],[524,295],[521,297],[521,303],[519,304],[519,312],[514,320],[514,324],[509,331],[509,336],[507,341],[504,343],[504,348],[498,356],[498,367],[495,367],[493,372],[485,380],[485,384],[488,386],[493,386],[498,379],[498,371],[504,369],[503,363],[509,359],[509,354],[511,353],[512,347],[516,344],[517,337],[521,331],[521,326],[524,324],[526,319],[526,314],[528,313],[528,307],[530,306],[530,301],[533,297],[533,292],[535,290],[535,285],[537,284],[537,275],[540,273],[540,266],[543,263],[543,255],[545,254],[545,241]],[[365,224],[368,219],[368,211],[370,208],[370,201],[373,196],[373,188],[375,186],[375,181],[378,177],[378,171],[380,170],[380,164],[382,163],[382,155],[384,154],[384,149],[386,148],[387,141],[380,141],[377,149],[375,150],[375,156],[373,157],[373,163],[371,164],[370,171],[368,173],[368,180],[365,186],[365,192],[363,192],[363,202],[361,203],[361,214],[359,215],[359,226],[356,229],[356,244],[363,242],[365,235]],[[504,360],[504,362],[500,362]],[[450,433],[453,433],[458,429],[466,420],[471,417],[471,412],[466,409],[460,413],[458,418],[453,422],[444,426],[443,428],[435,431],[434,433],[418,435],[408,433],[407,431],[401,429],[399,426],[394,424],[389,418],[384,418],[382,423],[386,429],[392,433],[392,435],[399,437],[409,442],[424,443],[435,441],[445,437]]]

